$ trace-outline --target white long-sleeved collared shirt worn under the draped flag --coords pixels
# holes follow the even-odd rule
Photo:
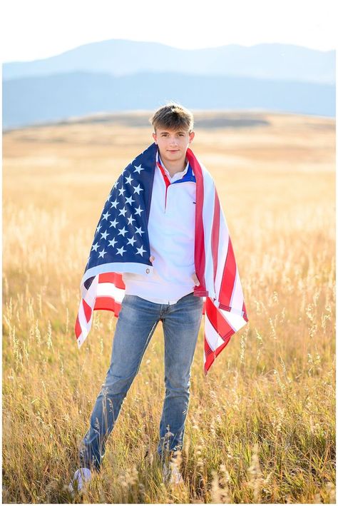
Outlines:
[[[148,234],[150,255],[153,261],[153,275],[123,273],[126,294],[158,304],[174,304],[184,295],[193,292],[195,281],[195,181],[179,181],[188,171],[175,173],[170,185],[165,185],[160,168],[155,166],[153,193],[150,203]]]

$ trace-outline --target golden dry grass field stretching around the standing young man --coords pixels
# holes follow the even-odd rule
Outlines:
[[[73,326],[94,228],[121,169],[151,142],[149,113],[4,133],[3,502],[73,502],[66,485],[108,369],[116,319]],[[249,323],[203,374],[193,363],[180,469],[155,455],[160,325],[83,503],[335,502],[334,135],[329,118],[195,114]]]

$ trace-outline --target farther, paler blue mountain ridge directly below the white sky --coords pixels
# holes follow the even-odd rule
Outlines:
[[[3,79],[74,71],[112,76],[178,72],[334,84],[335,51],[287,44],[176,49],[155,42],[113,39],[86,44],[51,58],[4,64]]]

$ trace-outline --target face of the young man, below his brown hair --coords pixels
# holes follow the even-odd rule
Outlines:
[[[160,157],[165,161],[182,162],[185,161],[185,153],[189,144],[193,141],[195,132],[188,132],[180,128],[178,130],[170,130],[169,128],[157,128],[153,133],[153,139],[158,145]]]

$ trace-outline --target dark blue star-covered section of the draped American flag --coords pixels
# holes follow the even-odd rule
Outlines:
[[[147,150],[148,151],[148,150]],[[142,163],[138,158],[142,156]],[[121,272],[121,263],[133,265],[135,272],[141,265],[150,265],[150,244],[148,236],[148,218],[151,191],[155,167],[155,151],[150,150],[128,164],[111,189],[103,208],[101,218],[91,246],[85,273],[100,273],[100,265],[117,265]],[[149,271],[148,271],[149,272]],[[87,279],[86,288],[92,278]]]

